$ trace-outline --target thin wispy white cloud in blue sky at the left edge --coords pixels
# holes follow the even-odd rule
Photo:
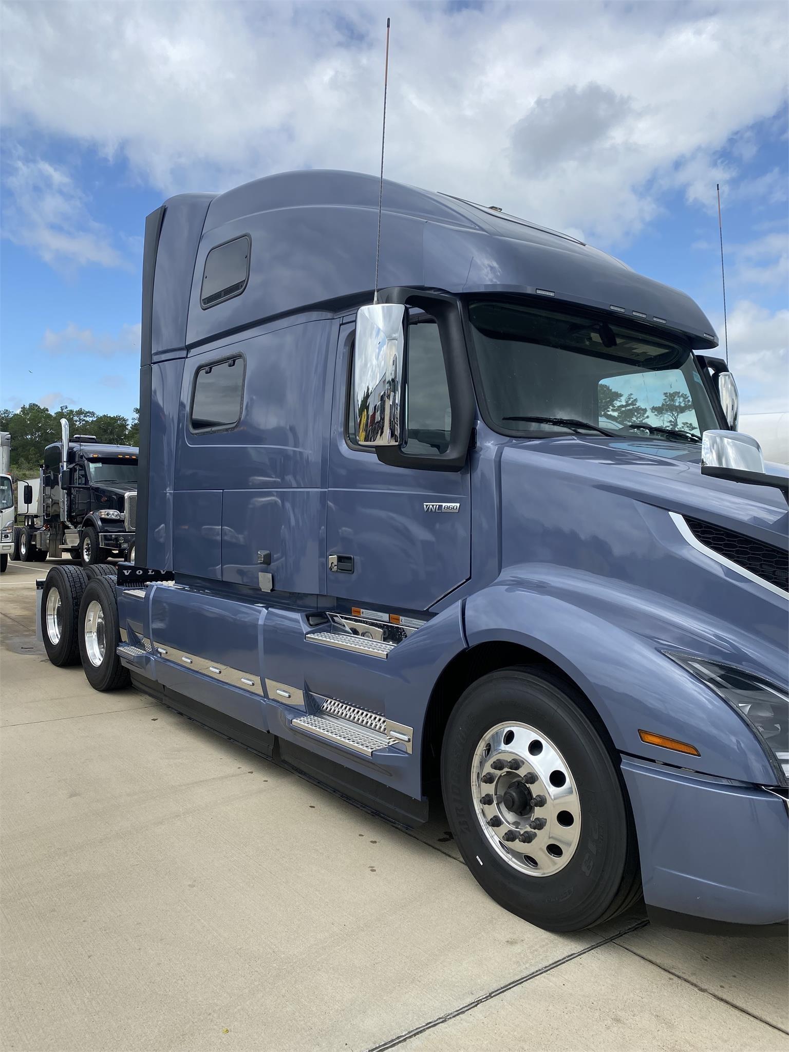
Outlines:
[[[112,234],[95,222],[68,173],[14,150],[5,165],[3,234],[53,266],[124,266]]]

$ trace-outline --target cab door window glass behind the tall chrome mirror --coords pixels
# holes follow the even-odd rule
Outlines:
[[[403,452],[446,452],[452,412],[449,406],[449,387],[441,349],[439,327],[420,317],[408,327],[408,358],[406,386],[406,443]],[[348,439],[357,444],[357,425],[353,406],[348,398]],[[370,450],[371,451],[371,450]]]

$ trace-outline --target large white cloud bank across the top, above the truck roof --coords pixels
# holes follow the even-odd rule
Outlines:
[[[85,9],[6,7],[14,135],[124,158],[163,194],[377,170],[380,6],[93,4],[89,29]],[[782,3],[423,3],[393,16],[387,175],[609,244],[668,189],[710,206],[710,186],[752,153],[748,127],[786,97]],[[749,193],[774,195],[775,181]],[[94,240],[83,255],[97,251]]]

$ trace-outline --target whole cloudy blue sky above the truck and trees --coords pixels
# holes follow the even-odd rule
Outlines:
[[[789,6],[4,3],[0,405],[129,416],[145,216],[299,168],[565,230],[689,292],[743,411],[789,409]]]

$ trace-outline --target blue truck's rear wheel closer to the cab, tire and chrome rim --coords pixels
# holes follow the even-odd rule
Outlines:
[[[79,649],[82,668],[94,690],[127,687],[130,676],[121,665],[117,648],[121,642],[115,587],[105,576],[87,582],[79,612]]]

